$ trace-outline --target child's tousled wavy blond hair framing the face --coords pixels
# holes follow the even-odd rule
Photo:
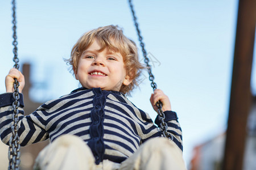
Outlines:
[[[122,55],[126,75],[130,77],[132,82],[128,86],[122,84],[120,92],[129,94],[134,87],[138,86],[138,79],[144,67],[139,62],[137,46],[133,41],[123,35],[122,29],[118,26],[108,25],[86,32],[73,46],[71,58],[65,61],[72,66],[73,73],[76,73],[82,52],[89,48],[94,40],[97,40],[100,44],[100,51],[107,48],[110,51],[119,52]]]

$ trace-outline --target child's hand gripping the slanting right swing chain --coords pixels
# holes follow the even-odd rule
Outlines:
[[[152,104],[152,107],[154,108],[154,110],[157,112],[158,111],[158,107],[156,107],[156,102],[157,101],[161,101],[163,106],[162,106],[162,110],[164,111],[171,111],[171,103],[170,100],[168,98],[168,96],[166,96],[162,90],[160,89],[156,89],[154,91],[154,94],[151,94],[150,97],[150,102]]]

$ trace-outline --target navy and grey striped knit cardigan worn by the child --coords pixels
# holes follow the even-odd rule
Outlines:
[[[0,135],[6,144],[12,135],[12,103],[11,93],[0,95]],[[125,95],[117,91],[78,88],[71,94],[48,101],[28,116],[23,116],[22,94],[20,105],[18,135],[21,146],[48,138],[52,142],[60,135],[73,134],[82,138],[90,147],[97,164],[103,159],[121,163],[147,139],[161,134],[147,113],[135,107]],[[176,113],[164,113],[168,132],[183,150]],[[160,124],[158,118],[155,123]]]

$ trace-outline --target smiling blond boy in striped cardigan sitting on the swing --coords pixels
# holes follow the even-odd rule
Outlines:
[[[137,47],[121,29],[109,25],[85,33],[73,46],[68,63],[81,88],[48,101],[28,116],[20,108],[20,145],[48,138],[52,142],[40,152],[35,168],[185,169],[181,129],[168,97],[155,90],[150,101],[155,111],[156,101],[162,101],[173,141],[157,138],[159,128],[125,96],[137,86],[143,67]],[[14,78],[22,92],[24,76],[11,69],[6,93],[0,95],[0,133],[6,144],[13,121]],[[158,118],[155,123],[159,125]]]

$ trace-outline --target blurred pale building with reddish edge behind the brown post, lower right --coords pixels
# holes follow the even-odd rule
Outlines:
[[[238,125],[239,126],[239,125]],[[224,156],[225,133],[194,147],[191,170],[219,170]],[[243,169],[256,169],[256,96],[247,120],[247,137],[243,155]]]

